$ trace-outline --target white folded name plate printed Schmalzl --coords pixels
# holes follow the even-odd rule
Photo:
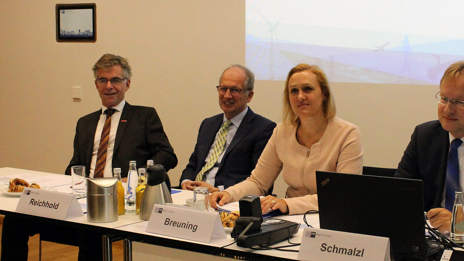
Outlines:
[[[298,260],[390,261],[390,239],[321,228],[304,228]]]

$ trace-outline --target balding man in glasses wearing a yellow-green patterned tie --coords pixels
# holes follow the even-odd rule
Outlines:
[[[180,177],[182,189],[200,186],[222,191],[251,175],[276,126],[247,106],[253,85],[253,73],[242,65],[231,65],[222,73],[216,88],[224,113],[201,123],[197,144]]]

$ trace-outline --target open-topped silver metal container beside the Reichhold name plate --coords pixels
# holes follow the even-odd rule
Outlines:
[[[87,179],[87,221],[113,222],[117,214],[117,178]]]

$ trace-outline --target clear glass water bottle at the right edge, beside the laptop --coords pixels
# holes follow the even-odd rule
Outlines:
[[[464,245],[464,194],[462,191],[455,192],[453,213],[451,216],[451,241],[458,245]]]

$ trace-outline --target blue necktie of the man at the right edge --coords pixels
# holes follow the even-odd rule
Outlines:
[[[451,141],[451,150],[448,155],[448,167],[446,169],[446,192],[445,192],[445,209],[453,211],[454,192],[459,191],[459,159],[458,147],[463,144],[461,139]]]

